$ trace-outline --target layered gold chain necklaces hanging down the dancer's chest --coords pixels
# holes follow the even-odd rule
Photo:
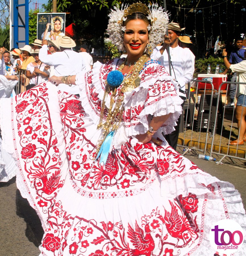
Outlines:
[[[105,92],[103,96],[103,102],[100,112],[100,121],[97,129],[103,129],[103,138],[99,141],[99,145],[97,147],[97,152],[99,151],[101,145],[103,144],[105,138],[110,132],[114,132],[118,129],[122,119],[122,113],[124,111],[124,107],[122,106],[124,100],[124,92],[130,92],[134,88],[137,88],[140,84],[139,72],[143,68],[145,62],[149,59],[148,55],[142,55],[134,64],[133,69],[124,77],[123,82],[120,84],[120,89],[118,90],[118,97],[116,98],[117,89],[114,88],[111,91],[112,87],[106,83]],[[118,71],[122,71],[124,66],[126,65],[127,59],[120,65]],[[109,108],[105,106],[105,98],[107,95],[111,93],[110,105]],[[116,98],[116,100],[115,100]],[[115,105],[115,106],[114,106]],[[114,108],[113,108],[114,106]],[[105,113],[105,108],[108,110],[107,118],[105,123],[103,123],[103,115]]]

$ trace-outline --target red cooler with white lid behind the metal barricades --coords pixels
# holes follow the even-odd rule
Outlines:
[[[219,86],[222,82],[227,81],[227,75],[221,75],[221,74],[199,74],[197,77],[197,80],[207,80],[213,83],[214,89],[218,90]],[[205,89],[206,85],[206,90],[210,90],[212,88],[210,83],[206,82],[198,82],[198,90],[203,90]],[[221,87],[221,90],[226,90],[227,84],[223,84]]]

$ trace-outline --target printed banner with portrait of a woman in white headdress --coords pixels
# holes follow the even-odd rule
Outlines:
[[[64,36],[65,22],[66,13],[38,13],[37,39],[42,40],[44,35],[47,40],[54,40],[56,36]],[[50,24],[49,29],[48,32],[45,33],[48,23]]]

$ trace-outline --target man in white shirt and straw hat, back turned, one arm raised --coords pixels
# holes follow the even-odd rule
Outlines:
[[[58,46],[60,46],[61,52],[48,54],[47,40],[43,40],[43,46],[39,51],[39,59],[49,66],[54,66],[54,75],[58,77],[76,75],[84,70],[85,65],[82,56],[71,49],[76,46],[74,40],[68,36],[59,36],[56,41]],[[59,90],[70,94],[80,93],[77,85],[68,86],[67,84],[59,84],[57,87]]]

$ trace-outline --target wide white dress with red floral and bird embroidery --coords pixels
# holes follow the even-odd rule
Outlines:
[[[149,115],[172,113],[155,133],[162,138],[181,113],[171,78],[156,61],[125,93],[106,164],[94,160],[105,79],[121,63],[78,74],[80,99],[47,82],[1,100],[3,142],[19,165],[16,183],[45,232],[41,255],[213,255],[212,224],[234,218],[244,227],[245,210],[232,184],[164,143],[134,137],[148,130]]]

